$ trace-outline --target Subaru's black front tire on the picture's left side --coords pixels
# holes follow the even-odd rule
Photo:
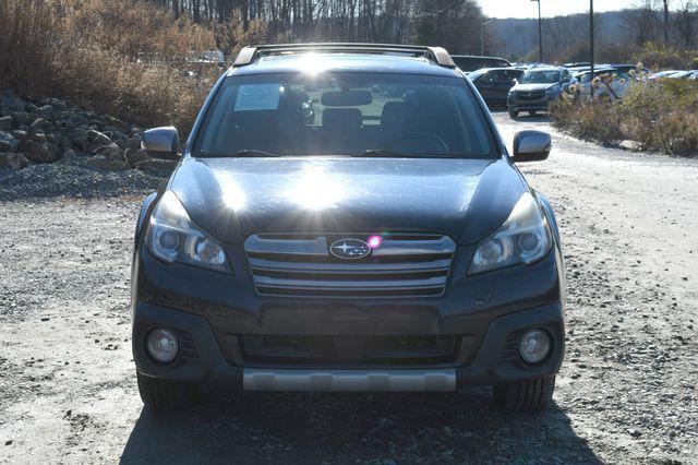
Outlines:
[[[201,400],[198,385],[136,373],[143,404],[155,412],[191,407]]]

